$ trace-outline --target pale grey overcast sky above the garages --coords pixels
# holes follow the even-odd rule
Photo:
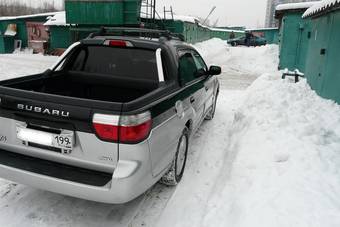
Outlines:
[[[21,0],[23,2],[50,2],[51,0]],[[54,0],[60,5],[62,0]],[[211,16],[211,22],[218,19],[218,25],[243,25],[257,27],[264,25],[267,0],[156,0],[158,12],[163,12],[163,6],[173,7],[176,14],[191,15],[205,18],[211,8],[216,11]]]

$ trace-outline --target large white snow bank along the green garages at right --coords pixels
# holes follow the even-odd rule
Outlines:
[[[340,226],[340,106],[261,76],[235,114],[230,177],[204,226]]]

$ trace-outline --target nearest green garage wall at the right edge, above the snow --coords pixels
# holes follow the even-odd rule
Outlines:
[[[340,11],[312,19],[311,24],[307,80],[320,96],[340,103]]]

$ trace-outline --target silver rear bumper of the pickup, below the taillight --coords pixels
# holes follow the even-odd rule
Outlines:
[[[147,141],[138,147],[122,146],[120,158],[112,180],[102,187],[14,168],[5,163],[0,164],[0,177],[72,197],[101,203],[121,204],[143,194],[158,179],[152,176]]]

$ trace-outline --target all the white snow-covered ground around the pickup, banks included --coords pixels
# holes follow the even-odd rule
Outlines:
[[[116,206],[0,180],[0,226],[340,226],[339,105],[304,80],[282,81],[275,45],[213,39],[196,47],[223,67],[221,92],[215,119],[191,141],[178,187],[157,184]],[[55,60],[0,55],[0,78]]]

